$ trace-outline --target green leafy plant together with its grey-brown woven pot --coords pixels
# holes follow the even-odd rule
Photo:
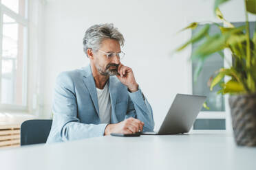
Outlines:
[[[211,90],[217,84],[221,86],[218,93],[229,95],[229,105],[233,132],[237,145],[256,146],[256,30],[250,38],[248,12],[256,14],[256,0],[244,0],[246,24],[234,27],[224,19],[219,5],[228,0],[215,0],[214,12],[224,26],[213,23],[220,28],[220,34],[209,35],[210,24],[206,24],[198,34],[184,43],[176,51],[182,51],[191,43],[202,41],[200,46],[191,55],[191,60],[198,62],[195,79],[198,77],[204,61],[213,53],[220,53],[225,58],[223,50],[229,49],[232,53],[232,64],[222,68],[210,78]],[[185,29],[194,29],[200,23],[191,23]],[[230,80],[224,82],[224,77]]]

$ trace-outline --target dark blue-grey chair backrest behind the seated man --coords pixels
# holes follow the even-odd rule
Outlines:
[[[34,119],[21,124],[21,146],[36,143],[46,143],[50,134],[52,120]]]

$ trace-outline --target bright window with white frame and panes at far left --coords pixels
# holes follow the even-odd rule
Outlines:
[[[1,0],[0,4],[0,109],[27,106],[27,0]]]

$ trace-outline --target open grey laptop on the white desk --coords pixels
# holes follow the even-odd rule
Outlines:
[[[158,132],[140,134],[183,134],[189,132],[206,96],[177,94]]]

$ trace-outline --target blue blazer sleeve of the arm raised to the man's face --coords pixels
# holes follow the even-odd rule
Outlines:
[[[145,123],[143,132],[153,132],[155,127],[155,122],[153,121],[153,111],[146,97],[143,95],[140,86],[136,92],[130,93],[128,90],[128,93],[129,101],[125,119],[129,117],[139,119]]]

